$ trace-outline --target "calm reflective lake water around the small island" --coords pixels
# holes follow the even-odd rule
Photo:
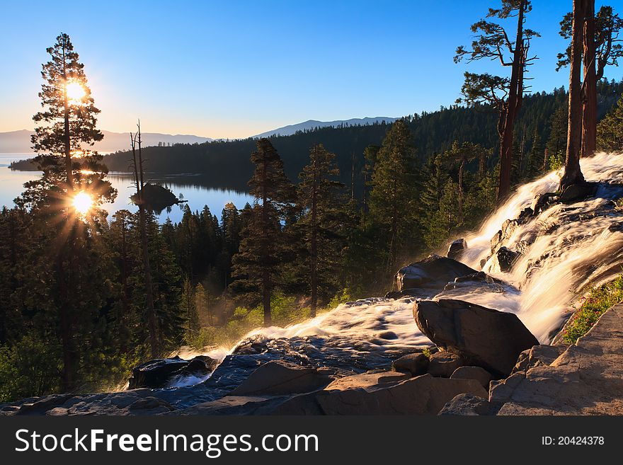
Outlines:
[[[11,171],[8,164],[11,161],[32,158],[33,154],[0,154],[0,206],[13,206],[13,199],[23,192],[23,184],[29,180],[38,178],[40,171]],[[103,208],[110,214],[119,209],[136,210],[136,206],[130,201],[130,195],[134,191],[132,176],[126,173],[109,173],[108,180],[117,189],[117,198],[112,204],[105,204]],[[253,197],[248,193],[236,190],[224,190],[202,185],[198,176],[162,176],[147,174],[146,180],[159,183],[171,189],[178,198],[188,200],[188,206],[193,211],[203,209],[204,205],[210,208],[212,214],[220,219],[221,212],[227,202],[233,202],[238,208],[244,207],[246,202],[253,202]],[[182,218],[183,205],[173,205],[171,211],[164,210],[158,215],[159,222],[170,218],[172,222],[179,222]]]

